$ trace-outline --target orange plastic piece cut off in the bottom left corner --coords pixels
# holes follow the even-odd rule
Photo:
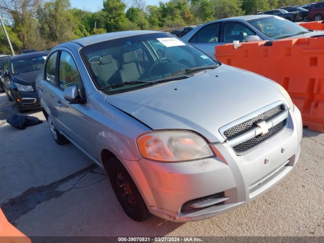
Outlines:
[[[8,222],[0,209],[0,242],[1,243],[31,243],[31,240]]]

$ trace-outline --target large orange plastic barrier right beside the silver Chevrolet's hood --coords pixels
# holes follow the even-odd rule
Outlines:
[[[300,109],[303,125],[324,132],[324,38],[240,44],[216,46],[215,57],[280,84]]]

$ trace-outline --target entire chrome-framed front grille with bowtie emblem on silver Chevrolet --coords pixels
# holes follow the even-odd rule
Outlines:
[[[289,111],[285,103],[277,101],[233,121],[220,128],[219,132],[236,154],[242,154],[284,129],[288,117]]]

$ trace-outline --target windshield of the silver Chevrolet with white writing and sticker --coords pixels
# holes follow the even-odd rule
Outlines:
[[[218,65],[169,33],[113,39],[84,47],[80,54],[96,87],[107,94],[148,87],[161,80],[175,80],[179,75],[182,76],[178,79],[183,79],[183,75]]]

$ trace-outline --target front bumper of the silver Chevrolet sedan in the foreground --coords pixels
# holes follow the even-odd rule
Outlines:
[[[299,158],[302,121],[297,107],[289,113],[291,122],[285,130],[241,156],[224,142],[211,145],[219,154],[215,158],[182,163],[142,158],[124,164],[152,214],[177,222],[213,217],[249,203],[292,171]],[[211,207],[183,211],[188,201],[217,193],[228,199]]]

